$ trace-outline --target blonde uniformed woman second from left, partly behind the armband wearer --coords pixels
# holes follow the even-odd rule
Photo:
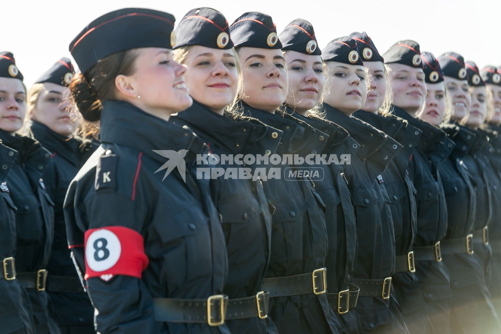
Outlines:
[[[44,173],[47,193],[54,207],[54,243],[47,265],[47,291],[54,318],[62,333],[94,332],[94,309],[70,257],[63,203],[73,178],[96,147],[71,136],[67,86],[75,74],[68,58],[62,58],[28,91],[25,133],[51,152],[50,168]]]

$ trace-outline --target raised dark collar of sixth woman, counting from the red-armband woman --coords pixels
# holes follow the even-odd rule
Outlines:
[[[398,141],[403,147],[393,159],[402,178],[405,177],[409,159],[417,146],[422,131],[410,125],[405,119],[395,115],[381,116],[376,113],[359,110],[354,115]]]

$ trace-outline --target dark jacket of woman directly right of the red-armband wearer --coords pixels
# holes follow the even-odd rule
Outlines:
[[[237,122],[216,114],[198,102],[193,102],[190,108],[169,120],[179,126],[188,126],[209,145],[210,153],[217,154],[220,159],[222,154],[232,154],[233,157],[247,154],[256,146],[263,147],[263,155],[266,150],[275,153],[282,136],[282,131],[257,119]],[[199,167],[221,168],[228,172],[239,167],[245,168],[234,160]],[[214,203],[222,216],[228,253],[228,277],[223,292],[230,299],[255,296],[260,291],[268,268],[272,234],[272,215],[263,191],[263,182],[224,176],[211,182]],[[259,317],[231,320],[231,315],[228,312],[226,319],[232,332],[276,332],[270,317],[268,320]]]

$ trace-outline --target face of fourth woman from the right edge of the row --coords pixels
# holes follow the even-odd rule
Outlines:
[[[426,102],[417,117],[438,125],[445,115],[445,84],[444,82],[426,83],[426,89]]]

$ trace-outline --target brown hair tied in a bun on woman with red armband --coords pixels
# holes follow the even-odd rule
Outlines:
[[[115,98],[115,78],[134,73],[136,49],[119,51],[100,59],[85,74],[78,72],[70,82],[70,103],[83,117],[81,134],[84,137],[99,132],[102,102]]]

